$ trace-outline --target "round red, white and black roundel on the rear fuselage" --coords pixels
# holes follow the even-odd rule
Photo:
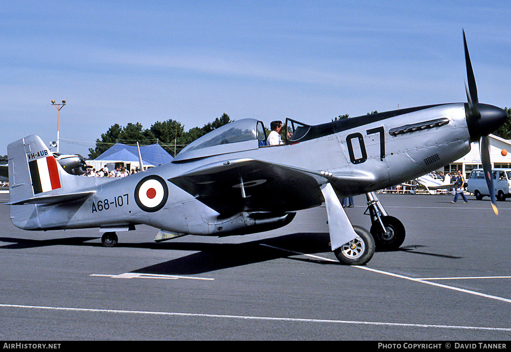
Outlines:
[[[149,175],[135,187],[135,202],[144,212],[157,212],[169,198],[169,188],[165,180],[157,175]]]

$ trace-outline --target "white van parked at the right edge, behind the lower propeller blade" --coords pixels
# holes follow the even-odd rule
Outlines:
[[[493,169],[493,186],[497,200],[504,201],[511,197],[511,169]],[[467,180],[467,191],[473,193],[477,200],[490,196],[483,169],[474,169]]]

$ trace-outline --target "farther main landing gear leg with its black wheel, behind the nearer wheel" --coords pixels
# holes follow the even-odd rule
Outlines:
[[[364,214],[371,216],[370,232],[376,243],[376,248],[380,251],[389,251],[398,249],[405,240],[405,227],[397,218],[389,216],[381,205],[374,192],[365,194],[367,197],[367,209]]]

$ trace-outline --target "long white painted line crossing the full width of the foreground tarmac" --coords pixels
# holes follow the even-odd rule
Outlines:
[[[177,313],[177,312],[127,311],[127,310],[112,310],[112,309],[22,306],[20,304],[0,304],[0,307],[19,308],[19,309],[42,309],[42,310],[51,310],[51,311],[70,311],[70,312],[84,312],[84,313],[140,314],[140,315],[159,315],[159,316],[181,316],[181,317],[194,317],[194,318],[223,318],[223,319],[266,320],[266,321],[271,320],[271,321],[284,321],[284,322],[290,321],[290,322],[303,322],[303,323],[334,323],[334,324],[353,324],[353,325],[429,327],[429,328],[444,328],[444,329],[456,329],[456,330],[481,330],[481,331],[511,332],[511,328],[507,328],[507,327],[389,323],[389,322],[332,320],[332,319],[278,318],[278,317]]]

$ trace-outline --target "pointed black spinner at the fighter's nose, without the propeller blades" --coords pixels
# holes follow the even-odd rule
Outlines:
[[[480,116],[470,116],[472,110],[466,108],[467,124],[472,142],[479,140],[481,136],[487,136],[507,121],[505,110],[486,104],[477,104],[477,111]]]

